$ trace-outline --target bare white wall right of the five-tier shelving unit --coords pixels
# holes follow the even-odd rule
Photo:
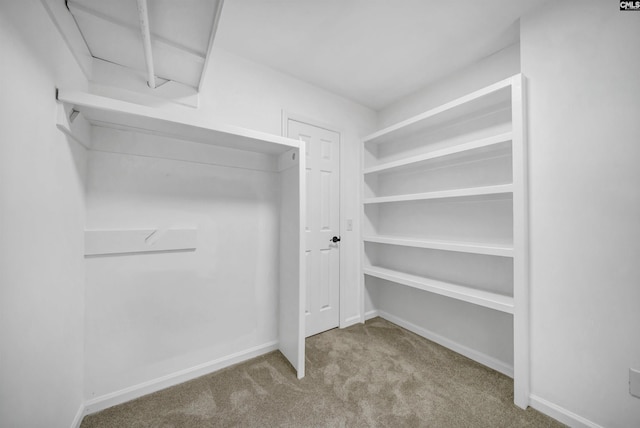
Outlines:
[[[521,30],[532,392],[601,426],[640,426],[628,385],[640,368],[640,13],[564,0]]]

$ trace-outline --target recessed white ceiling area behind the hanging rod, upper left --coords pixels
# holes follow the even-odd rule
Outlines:
[[[219,0],[150,0],[155,75],[198,88]],[[145,71],[136,0],[68,0],[91,55]]]

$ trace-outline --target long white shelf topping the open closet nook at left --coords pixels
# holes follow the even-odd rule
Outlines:
[[[143,131],[205,144],[267,154],[282,154],[300,147],[297,140],[251,129],[213,123],[189,111],[158,108],[102,97],[86,92],[59,91],[58,100],[82,113],[93,125]]]

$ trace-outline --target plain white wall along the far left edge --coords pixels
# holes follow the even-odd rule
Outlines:
[[[56,86],[86,80],[37,1],[0,2],[0,426],[68,427],[83,396],[85,150]]]

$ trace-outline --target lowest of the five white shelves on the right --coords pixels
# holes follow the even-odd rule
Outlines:
[[[489,291],[478,290],[444,281],[437,281],[422,276],[409,275],[407,273],[377,266],[365,266],[363,271],[365,275],[418,288],[430,293],[440,294],[452,299],[473,303],[474,305],[483,306],[485,308],[513,314],[513,297],[510,296],[504,296],[502,294],[491,293]]]

